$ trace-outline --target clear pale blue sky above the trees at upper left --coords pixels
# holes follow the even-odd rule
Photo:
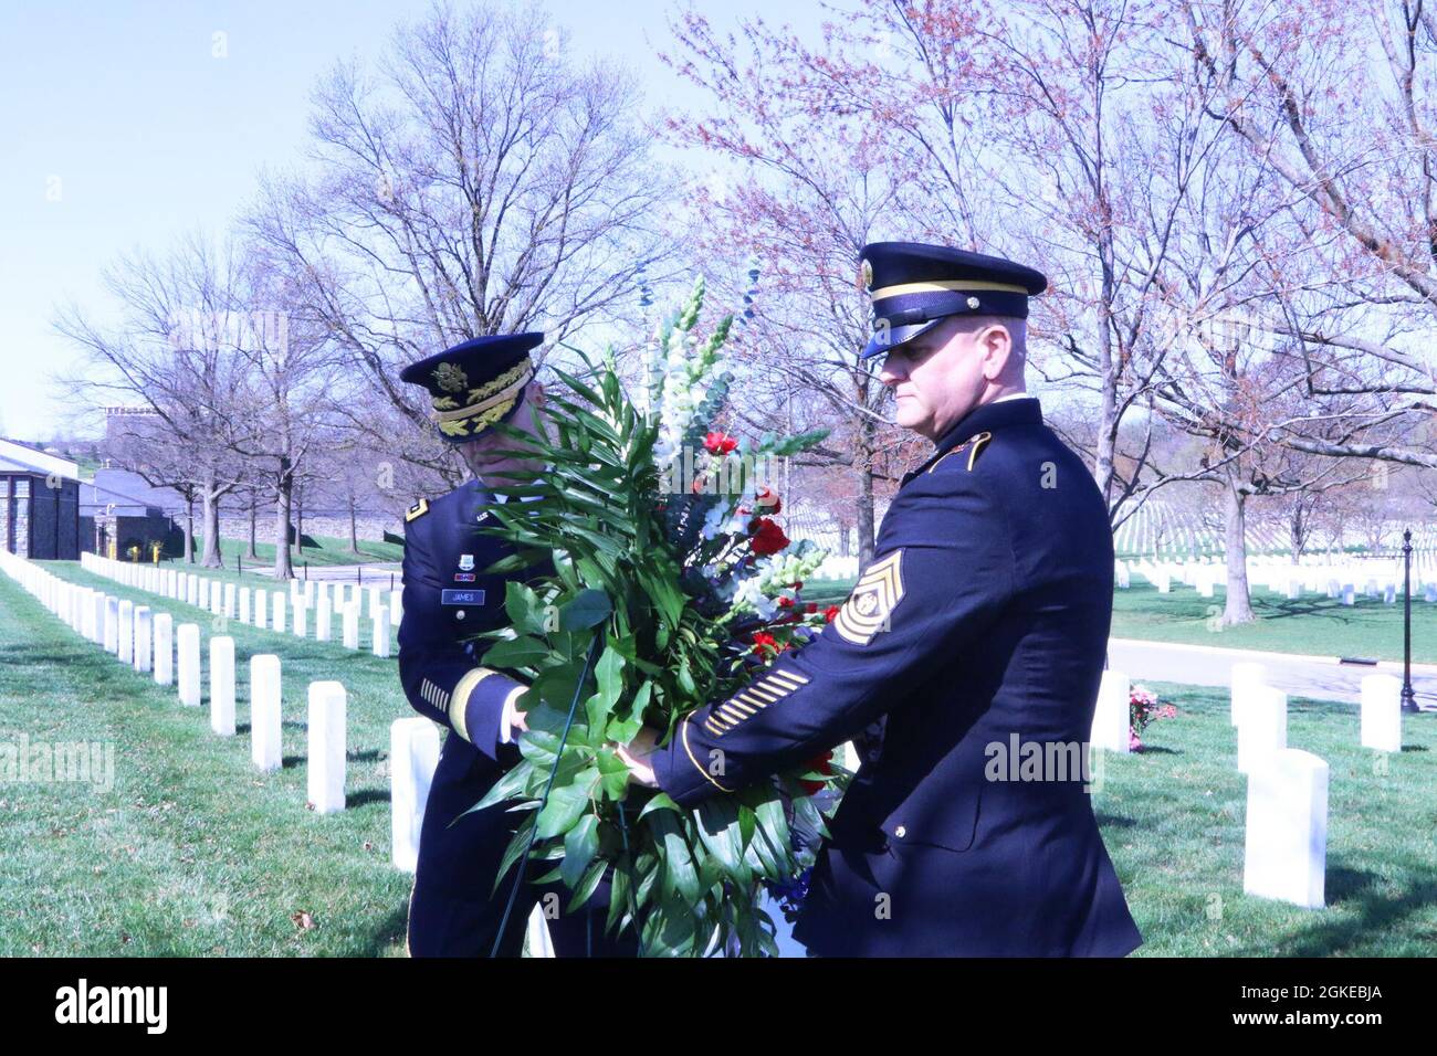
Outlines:
[[[93,434],[52,375],[75,361],[66,300],[103,318],[101,269],[223,231],[264,165],[305,141],[309,92],[336,57],[378,56],[427,0],[4,0],[0,4],[0,435]],[[818,0],[698,3],[720,24],[818,22]],[[555,0],[578,49],[634,69],[650,99],[687,93],[654,52],[678,0]],[[216,56],[217,33],[226,55]]]

